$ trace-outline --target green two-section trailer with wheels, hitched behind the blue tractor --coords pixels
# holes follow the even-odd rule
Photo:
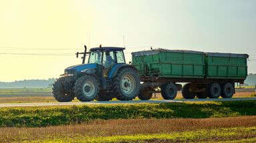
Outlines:
[[[164,99],[174,99],[182,90],[187,99],[231,98],[235,82],[243,83],[247,76],[247,58],[245,54],[167,49],[132,53],[132,65],[143,82],[138,97],[148,100],[153,92],[161,92]],[[181,88],[178,82],[188,83]]]

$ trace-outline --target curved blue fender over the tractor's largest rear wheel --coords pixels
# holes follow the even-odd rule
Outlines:
[[[116,76],[116,74],[118,74],[118,71],[120,71],[121,69],[124,68],[130,68],[130,69],[134,69],[136,72],[138,72],[138,70],[132,66],[132,65],[128,65],[128,64],[116,64],[112,67],[112,69],[110,70],[110,72],[108,72],[108,78],[112,79],[114,78],[114,76]]]

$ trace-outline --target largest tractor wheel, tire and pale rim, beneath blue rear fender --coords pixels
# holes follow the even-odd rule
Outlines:
[[[118,100],[132,100],[140,92],[140,78],[134,69],[125,68],[118,72],[113,82],[114,95]]]

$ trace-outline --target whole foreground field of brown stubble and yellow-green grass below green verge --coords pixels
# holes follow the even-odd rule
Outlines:
[[[0,128],[0,142],[256,141],[256,116],[94,120],[44,128]]]

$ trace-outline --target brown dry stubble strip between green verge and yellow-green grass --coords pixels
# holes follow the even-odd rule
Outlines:
[[[88,124],[44,128],[0,128],[0,142],[73,138],[74,136],[116,136],[127,134],[164,134],[213,128],[256,126],[256,116],[205,119],[129,119],[94,120]]]

